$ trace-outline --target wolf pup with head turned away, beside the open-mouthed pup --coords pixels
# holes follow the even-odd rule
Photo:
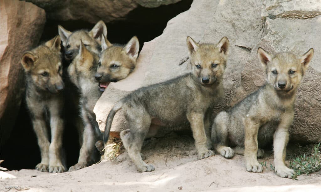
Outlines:
[[[80,135],[82,143],[78,163],[71,166],[69,171],[82,169],[99,160],[95,142],[100,138],[100,129],[93,112],[102,93],[97,88],[94,78],[98,60],[99,56],[90,52],[81,41],[79,53],[67,69],[71,82],[77,86],[80,92],[80,113],[84,123],[84,130]]]

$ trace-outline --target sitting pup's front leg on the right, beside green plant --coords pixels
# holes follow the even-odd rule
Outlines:
[[[283,114],[281,122],[273,135],[275,172],[280,177],[292,178],[294,171],[285,165],[286,146],[289,141],[289,127],[293,122],[294,114]]]

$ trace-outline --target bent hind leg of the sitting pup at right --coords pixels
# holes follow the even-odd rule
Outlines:
[[[220,112],[214,120],[212,127],[212,139],[214,140],[214,148],[221,156],[225,158],[232,158],[234,151],[228,147],[230,124],[229,114],[225,111]]]

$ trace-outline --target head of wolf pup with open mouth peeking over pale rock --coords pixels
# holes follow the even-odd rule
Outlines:
[[[111,44],[106,36],[102,37],[102,52],[95,79],[100,91],[104,91],[110,82],[126,78],[135,68],[139,51],[139,41],[132,37],[126,45]]]

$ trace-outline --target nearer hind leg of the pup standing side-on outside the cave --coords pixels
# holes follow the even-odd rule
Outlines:
[[[141,150],[143,141],[146,134],[148,133],[149,126],[151,124],[151,118],[147,114],[137,114],[137,111],[143,110],[136,110],[135,113],[130,113],[130,111],[128,111],[128,113],[126,114],[130,130],[120,132],[120,138],[123,141],[123,145],[128,153],[128,156],[137,166],[138,171],[150,172],[154,171],[155,168],[153,165],[146,164],[143,161]],[[133,116],[133,114],[135,114],[135,116]]]

